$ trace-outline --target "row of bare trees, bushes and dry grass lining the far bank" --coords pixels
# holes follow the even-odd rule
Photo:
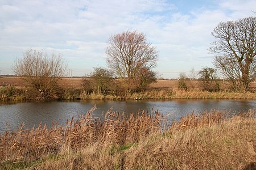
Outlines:
[[[220,22],[213,29],[209,52],[213,67],[202,66],[189,75],[180,73],[175,86],[154,88],[159,75],[153,69],[158,50],[138,31],[111,36],[106,65],[94,67],[75,88],[61,86],[68,65],[61,54],[28,49],[14,62],[13,71],[24,86],[1,85],[1,100],[55,99],[255,99],[256,17]],[[0,83],[3,83],[2,76]]]

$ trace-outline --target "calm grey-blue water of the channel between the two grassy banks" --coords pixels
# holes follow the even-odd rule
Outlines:
[[[72,116],[86,113],[96,105],[94,116],[100,116],[102,112],[112,108],[119,113],[159,111],[164,117],[171,120],[179,120],[182,116],[194,111],[204,112],[211,109],[230,111],[234,113],[254,109],[256,100],[127,100],[127,101],[49,101],[31,103],[0,103],[0,133],[13,130],[24,122],[26,128],[38,126],[40,122],[51,125],[51,122],[59,122],[65,125]]]

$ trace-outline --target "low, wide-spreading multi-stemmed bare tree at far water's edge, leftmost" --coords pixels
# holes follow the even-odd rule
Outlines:
[[[56,99],[60,90],[57,82],[66,68],[60,54],[48,56],[30,49],[15,61],[13,71],[28,83],[37,99]]]

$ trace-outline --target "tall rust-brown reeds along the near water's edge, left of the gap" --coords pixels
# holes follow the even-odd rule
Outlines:
[[[148,112],[130,114],[129,117],[109,110],[104,117],[93,118],[92,108],[78,120],[67,121],[66,126],[39,125],[15,131],[6,131],[0,138],[0,160],[29,161],[63,150],[78,151],[92,143],[112,143],[123,145],[137,142],[151,133],[159,131],[160,114]]]

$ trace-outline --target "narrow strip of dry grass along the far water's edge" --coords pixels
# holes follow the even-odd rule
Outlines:
[[[124,94],[115,95],[97,94],[88,92],[82,89],[66,88],[59,93],[59,99],[63,100],[118,100],[118,99],[256,99],[255,92],[233,92],[233,91],[219,91],[209,92],[199,89],[193,90],[178,90],[177,88],[170,88],[169,90],[147,90],[144,92],[126,92]],[[35,97],[30,97],[30,90],[22,87],[3,86],[0,87],[0,101],[25,101],[36,100]]]

